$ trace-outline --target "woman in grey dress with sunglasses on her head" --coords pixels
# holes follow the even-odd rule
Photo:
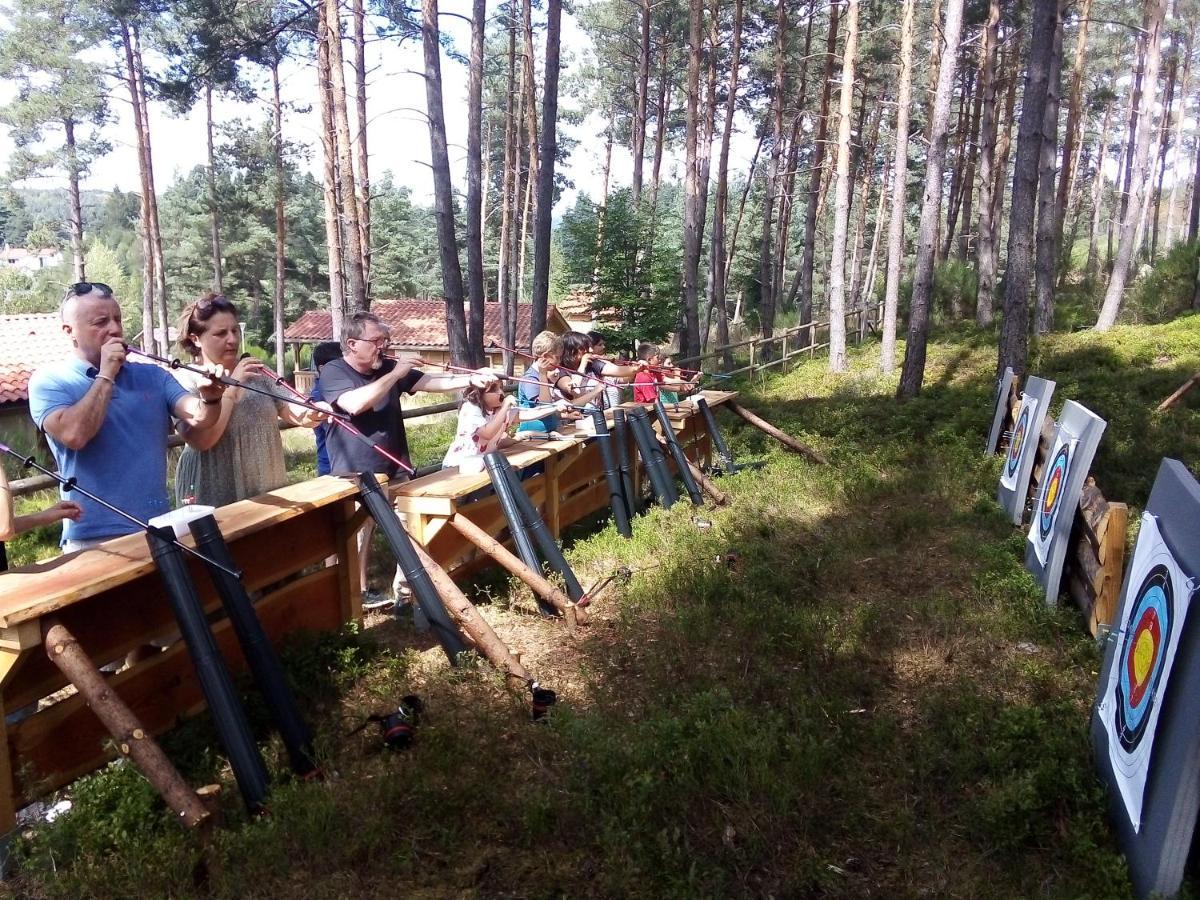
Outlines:
[[[220,294],[205,294],[184,311],[179,343],[197,362],[216,362],[240,382],[274,392],[278,390],[260,373],[258,360],[238,359],[241,350],[238,310]],[[175,376],[194,390],[191,372],[179,368]],[[311,409],[241,388],[229,388],[220,403],[221,419],[214,427],[199,433],[184,430],[187,446],[175,469],[179,504],[224,506],[282,487],[288,473],[278,420],[312,428],[322,419]]]

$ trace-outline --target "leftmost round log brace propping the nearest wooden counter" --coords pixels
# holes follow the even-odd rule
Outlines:
[[[116,740],[122,756],[128,756],[146,780],[162,794],[167,805],[179,814],[188,828],[203,824],[209,811],[187,786],[158,743],[142,727],[133,710],[104,683],[78,641],[61,624],[46,630],[46,653],[88,701],[88,706]]]

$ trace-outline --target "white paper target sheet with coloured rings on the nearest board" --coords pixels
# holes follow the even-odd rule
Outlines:
[[[1135,832],[1189,595],[1188,578],[1163,541],[1158,518],[1144,514],[1121,600],[1116,658],[1099,707],[1112,772]]]

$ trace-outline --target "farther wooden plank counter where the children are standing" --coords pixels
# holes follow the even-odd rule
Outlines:
[[[709,390],[701,391],[698,396],[715,408],[737,397],[737,392]],[[648,404],[624,403],[622,408],[644,406]],[[652,424],[661,432],[654,407],[648,408]],[[697,463],[710,463],[712,439],[695,406],[688,402],[668,406],[667,416],[684,452]],[[611,410],[605,419],[611,431]],[[533,474],[523,475],[522,484],[556,539],[564,528],[608,505],[599,439],[590,437],[590,432],[577,432],[574,425],[559,431],[563,440],[522,442],[502,451],[512,468],[522,473],[540,467]],[[637,462],[632,467],[634,487],[641,491],[643,473],[636,450],[632,458]],[[673,462],[670,464],[673,468]],[[451,574],[466,572],[482,562],[474,545],[454,528],[446,528],[455,515],[467,516],[490,535],[503,534],[503,540],[508,541],[508,522],[491,491],[486,472],[464,474],[451,467],[398,485],[394,496],[396,509],[404,514],[414,540],[420,541],[430,556]]]

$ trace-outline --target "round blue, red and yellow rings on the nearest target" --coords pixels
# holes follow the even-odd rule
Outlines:
[[[1175,625],[1174,588],[1165,565],[1146,574],[1124,622],[1124,644],[1117,660],[1116,734],[1126,752],[1146,736],[1150,712],[1166,668],[1166,648]]]

